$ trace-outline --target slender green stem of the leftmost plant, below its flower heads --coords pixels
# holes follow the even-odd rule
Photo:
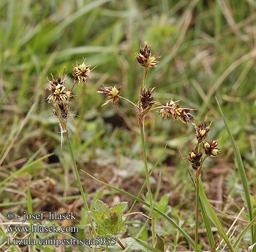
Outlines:
[[[67,138],[67,142],[68,142],[68,145],[69,145],[70,154],[71,154],[71,157],[72,157],[72,162],[73,162],[73,165],[74,165],[76,180],[77,180],[77,183],[78,183],[78,186],[79,186],[79,190],[80,190],[80,193],[81,193],[81,196],[82,196],[82,199],[83,199],[84,208],[85,208],[86,213],[87,213],[87,212],[89,211],[89,207],[88,207],[88,204],[87,204],[87,201],[86,201],[86,195],[85,195],[85,193],[84,193],[84,191],[83,191],[83,186],[82,186],[82,183],[81,183],[79,174],[78,174],[78,170],[77,170],[77,166],[76,166],[76,161],[75,161],[75,156],[74,156],[74,152],[73,152],[72,145],[71,145],[71,141],[70,141],[69,132],[67,131],[67,132],[65,133],[65,135],[66,135],[66,138]],[[88,216],[88,215],[87,215],[87,216]],[[93,236],[95,237],[95,236],[96,236],[96,233],[95,233],[95,230],[94,230],[94,227],[93,227],[92,220],[91,220],[91,218],[90,218],[89,216],[88,216],[88,219],[89,219],[89,222],[90,222],[90,225],[91,225],[92,234],[93,234]]]

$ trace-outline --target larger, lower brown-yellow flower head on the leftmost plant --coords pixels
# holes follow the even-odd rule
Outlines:
[[[71,91],[66,90],[65,79],[58,77],[55,80],[53,77],[53,81],[48,80],[48,82],[50,83],[50,95],[47,97],[48,103],[53,103],[54,105],[68,103],[72,94]]]

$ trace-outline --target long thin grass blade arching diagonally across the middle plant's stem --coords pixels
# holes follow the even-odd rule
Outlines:
[[[81,170],[81,171],[83,171],[83,170]],[[148,208],[150,207],[148,203],[146,203],[145,201],[139,199],[138,197],[136,197],[136,196],[134,196],[134,195],[132,195],[132,194],[129,194],[129,193],[123,191],[122,189],[120,189],[120,188],[118,188],[118,187],[115,187],[115,186],[113,186],[113,185],[111,185],[111,184],[108,184],[108,183],[105,183],[105,182],[103,182],[103,181],[98,180],[97,178],[93,177],[92,175],[90,175],[90,174],[87,173],[86,171],[83,171],[83,172],[84,172],[86,175],[88,175],[89,177],[91,177],[91,178],[93,178],[94,180],[96,180],[97,182],[99,182],[99,183],[101,183],[101,184],[104,184],[104,185],[106,185],[106,186],[112,188],[113,190],[116,190],[117,192],[128,196],[129,198],[131,198],[131,199],[133,199],[133,200],[136,200],[137,202],[139,202],[139,203],[145,205],[145,206],[148,207]],[[193,240],[181,227],[179,227],[178,224],[177,224],[175,221],[173,221],[168,215],[166,215],[166,214],[163,213],[162,211],[158,210],[157,208],[154,207],[153,210],[154,210],[155,212],[159,213],[160,215],[162,215],[167,221],[169,221],[169,222],[172,224],[172,226],[173,226],[174,228],[176,228],[180,233],[182,233],[182,235],[184,236],[184,238],[186,238],[187,241],[188,241],[192,246],[194,246],[194,240]],[[198,247],[198,251],[199,251],[199,252],[202,252],[202,250],[201,250],[199,247]],[[233,251],[234,251],[234,250],[232,250],[232,252],[233,252]]]

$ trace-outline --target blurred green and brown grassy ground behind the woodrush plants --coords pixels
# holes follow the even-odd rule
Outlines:
[[[77,97],[72,101],[72,110],[77,116],[69,120],[68,128],[81,183],[87,184],[84,191],[89,208],[93,209],[98,197],[109,206],[128,201],[131,207],[136,199],[139,203],[133,211],[148,214],[148,208],[143,207],[148,205],[146,190],[141,198],[135,197],[144,175],[134,111],[125,101],[120,101],[118,108],[101,108],[105,99],[96,94],[103,83],[122,86],[122,95],[136,103],[141,67],[135,52],[145,40],[152,43],[154,55],[161,55],[158,68],[148,72],[146,79],[148,88],[156,87],[155,99],[164,104],[171,98],[181,99],[185,107],[197,109],[193,114],[200,120],[207,113],[208,120],[213,120],[211,137],[220,139],[222,153],[204,163],[203,190],[199,188],[202,217],[199,214],[198,249],[210,250],[208,244],[213,247],[216,240],[219,245],[243,207],[228,239],[235,251],[245,251],[252,244],[256,234],[256,14],[252,2],[96,0],[45,1],[42,5],[3,0],[0,7],[0,250],[26,250],[5,244],[6,236],[13,235],[5,233],[7,212],[67,212],[75,199],[78,218],[72,225],[79,226],[75,235],[89,237],[69,145],[65,142],[61,151],[59,124],[45,102],[46,77],[50,73],[57,76],[65,67],[71,88],[73,65],[82,57],[97,67],[86,86],[74,89]],[[156,218],[155,229],[164,235],[170,251],[188,251],[190,246],[193,249],[195,191],[189,178],[193,173],[187,172],[190,168],[184,165],[179,151],[185,157],[194,145],[193,127],[157,115],[156,111],[147,114],[144,133],[148,167],[162,155],[150,176],[155,194],[162,174],[155,202],[155,214],[160,217]],[[123,172],[125,168],[130,174]],[[100,187],[100,183],[105,186]],[[106,184],[121,191],[110,191]],[[96,196],[97,192],[102,194]],[[159,203],[164,195],[169,197],[167,206]],[[150,225],[143,227],[144,222],[143,216],[129,216],[127,234],[135,237],[137,233],[132,230],[137,231],[139,226],[139,238],[150,245]],[[42,223],[53,224],[47,220]],[[45,238],[48,234],[30,234],[31,238],[33,235]],[[57,235],[51,233],[50,237]],[[36,249],[56,248],[31,246],[32,251]],[[67,249],[71,251],[71,247]],[[75,249],[90,248],[81,245]]]

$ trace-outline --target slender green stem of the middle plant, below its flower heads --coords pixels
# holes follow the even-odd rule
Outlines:
[[[141,137],[141,145],[142,145],[142,152],[143,152],[144,169],[145,169],[145,175],[146,175],[147,194],[148,194],[148,200],[149,200],[149,206],[150,206],[152,245],[155,246],[155,218],[153,214],[153,201],[152,201],[148,168],[147,168],[146,147],[145,147],[143,125],[140,125],[140,137]]]

